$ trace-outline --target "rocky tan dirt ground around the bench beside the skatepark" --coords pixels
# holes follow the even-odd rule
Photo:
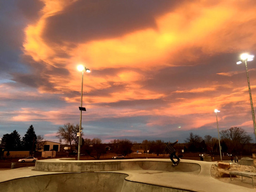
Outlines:
[[[251,178],[243,177],[243,181],[240,176],[236,176],[235,178],[232,177],[232,181],[230,180],[230,176],[221,178],[217,168],[218,168],[217,163],[212,166],[211,173],[213,178],[218,179],[222,182],[244,186],[247,188],[256,188],[255,186],[256,183],[254,183],[254,187],[252,186]],[[227,170],[228,171],[246,171],[246,172],[256,173],[256,168],[254,166],[245,166],[245,165],[239,165],[239,164],[230,164],[230,168]]]

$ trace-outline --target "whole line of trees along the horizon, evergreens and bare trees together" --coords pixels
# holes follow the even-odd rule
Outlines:
[[[83,128],[81,128],[83,130]],[[78,149],[78,137],[76,133],[79,132],[79,125],[64,124],[58,128],[57,136],[60,142],[64,142],[70,146],[70,152]],[[83,136],[83,132],[81,132]],[[44,142],[43,136],[36,136],[34,127],[31,125],[23,138],[14,130],[10,134],[5,134],[1,140],[1,146],[5,151],[30,151],[31,154],[37,149],[42,148]],[[255,152],[255,144],[251,144],[252,138],[246,131],[239,127],[231,127],[220,132],[220,144],[222,152],[229,154],[251,154]],[[114,139],[109,143],[102,143],[100,138],[83,138],[81,154],[89,155],[95,159],[107,151],[126,156],[132,151],[140,150],[144,153],[163,154],[165,149],[165,142],[162,140],[143,140],[141,143],[132,142],[128,139]],[[219,153],[218,138],[210,135],[205,135],[204,138],[190,132],[188,138],[184,143],[176,144],[177,152],[208,152]]]

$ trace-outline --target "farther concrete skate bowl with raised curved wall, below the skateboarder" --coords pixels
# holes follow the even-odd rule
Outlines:
[[[159,160],[95,160],[76,161],[68,159],[39,160],[36,161],[36,171],[47,172],[106,172],[118,170],[159,170],[167,172],[189,172],[200,174],[201,166],[197,163],[180,162],[172,167],[169,161]]]

